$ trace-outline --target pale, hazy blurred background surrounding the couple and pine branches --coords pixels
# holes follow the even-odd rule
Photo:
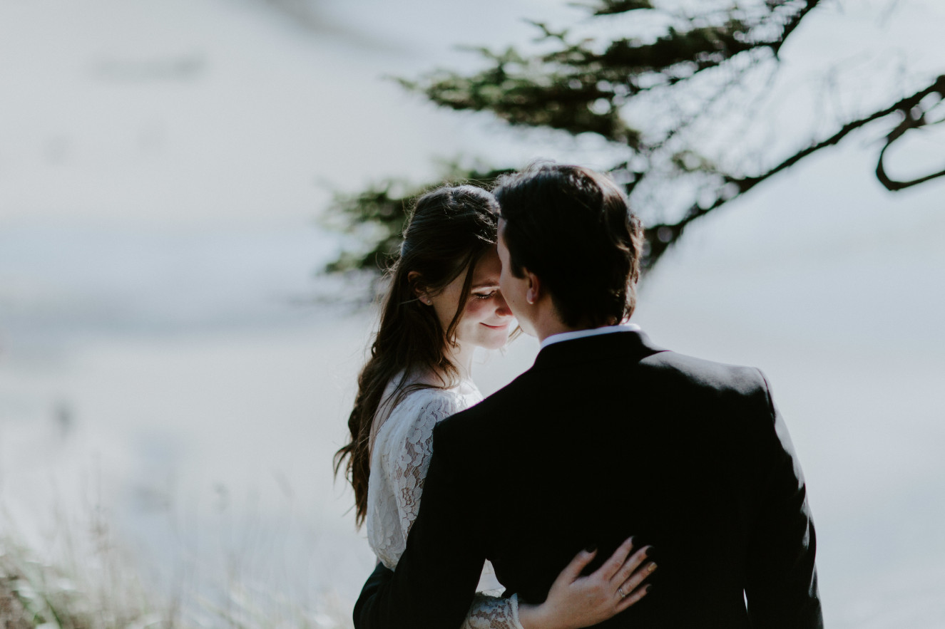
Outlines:
[[[538,0],[0,0],[0,557],[52,567],[43,587],[69,596],[140,590],[184,624],[346,626],[374,558],[332,456],[375,313],[363,273],[322,269],[374,232],[332,229],[338,199],[434,182],[444,161],[626,159],[391,78],[482,69],[458,44],[541,50],[527,20],[626,26]],[[765,170],[766,149],[945,73],[942,26],[936,0],[819,3],[777,76],[744,79],[764,102],[730,94],[751,126],[719,114],[706,142]],[[765,370],[837,628],[945,618],[945,178],[881,185],[901,119],[667,232],[633,317],[663,347]],[[941,129],[906,140],[895,178],[945,167]],[[483,355],[475,379],[488,394],[536,351]]]

